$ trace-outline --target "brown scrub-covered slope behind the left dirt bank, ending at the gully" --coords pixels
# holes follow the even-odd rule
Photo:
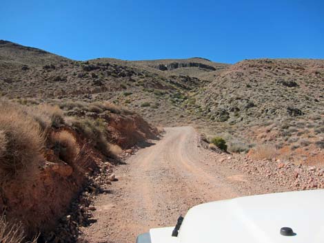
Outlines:
[[[0,54],[2,96],[19,98],[21,102],[26,98],[50,98],[62,102],[110,101],[136,109],[151,122],[162,125],[175,125],[179,120],[190,123],[192,116],[185,112],[183,103],[192,92],[207,83],[139,62],[116,59],[72,61],[8,41],[1,41]]]

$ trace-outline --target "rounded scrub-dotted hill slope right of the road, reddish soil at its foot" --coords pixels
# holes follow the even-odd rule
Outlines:
[[[259,59],[232,65],[196,100],[216,130],[273,146],[284,160],[316,163],[323,162],[323,94],[324,60]]]

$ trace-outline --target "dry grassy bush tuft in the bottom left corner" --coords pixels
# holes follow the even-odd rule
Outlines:
[[[21,224],[8,224],[6,218],[0,216],[0,242],[1,243],[37,243],[37,237],[26,242],[25,233]]]

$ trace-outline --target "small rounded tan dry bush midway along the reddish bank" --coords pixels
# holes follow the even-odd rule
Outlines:
[[[69,131],[59,131],[52,134],[54,151],[59,154],[59,158],[68,165],[73,165],[79,155],[80,148],[76,138]]]

